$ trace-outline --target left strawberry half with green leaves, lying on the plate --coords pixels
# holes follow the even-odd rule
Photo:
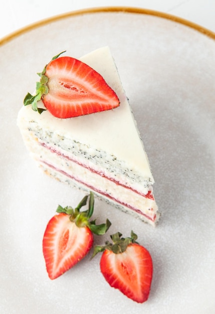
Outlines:
[[[94,208],[92,193],[88,210],[80,212],[87,199],[88,196],[84,197],[75,209],[58,206],[59,214],[52,217],[47,225],[43,254],[50,279],[59,277],[83,259],[92,248],[93,233],[102,235],[111,225],[108,219],[101,225],[96,225],[95,221],[89,222]]]

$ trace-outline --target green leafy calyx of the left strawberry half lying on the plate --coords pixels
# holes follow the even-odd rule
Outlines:
[[[65,213],[70,216],[70,221],[74,222],[77,227],[88,227],[94,234],[103,235],[107,232],[107,230],[111,226],[111,222],[106,219],[106,223],[96,225],[96,220],[89,221],[94,211],[94,195],[90,192],[89,198],[89,206],[85,211],[81,211],[80,209],[87,204],[88,195],[86,195],[78,206],[73,209],[71,206],[62,207],[61,205],[57,208],[57,213]]]

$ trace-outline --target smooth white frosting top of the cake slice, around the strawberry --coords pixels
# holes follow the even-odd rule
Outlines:
[[[118,160],[129,164],[129,168],[141,176],[150,178],[153,184],[147,155],[109,48],[97,49],[80,60],[100,73],[116,92],[120,99],[118,108],[70,119],[59,119],[52,116],[48,110],[40,115],[29,105],[22,107],[18,120],[25,116],[27,120],[38,121],[42,127],[58,130],[60,134],[72,137],[89,147],[107,151]],[[39,104],[39,107],[42,107],[42,104]]]

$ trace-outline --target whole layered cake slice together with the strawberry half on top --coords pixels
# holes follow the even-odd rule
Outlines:
[[[155,225],[154,179],[109,48],[66,58],[45,67],[19,112],[26,146],[52,177]]]

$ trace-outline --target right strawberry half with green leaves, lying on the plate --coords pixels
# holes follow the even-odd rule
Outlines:
[[[130,238],[121,236],[119,232],[111,235],[113,244],[107,241],[104,246],[96,246],[93,256],[103,252],[100,269],[111,287],[142,303],[148,299],[151,287],[151,255],[135,241],[137,236],[133,232]]]

